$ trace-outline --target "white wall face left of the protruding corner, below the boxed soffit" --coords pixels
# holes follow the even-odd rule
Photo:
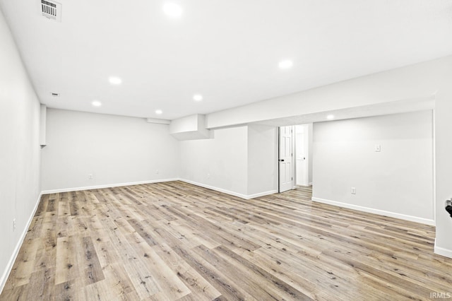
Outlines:
[[[180,141],[180,177],[236,196],[248,189],[248,127],[217,129],[210,139]]]

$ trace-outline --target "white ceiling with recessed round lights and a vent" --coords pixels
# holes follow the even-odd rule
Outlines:
[[[61,23],[0,6],[41,102],[68,110],[176,119],[452,54],[452,0],[59,2]]]

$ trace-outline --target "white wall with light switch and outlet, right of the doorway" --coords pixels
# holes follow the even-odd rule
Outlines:
[[[432,126],[432,111],[314,124],[313,199],[433,223]]]

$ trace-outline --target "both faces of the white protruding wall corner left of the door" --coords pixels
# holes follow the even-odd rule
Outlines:
[[[182,180],[246,199],[275,193],[277,128],[238,126],[216,129],[213,136],[180,142]]]

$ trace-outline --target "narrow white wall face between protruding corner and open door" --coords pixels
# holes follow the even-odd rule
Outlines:
[[[278,128],[248,126],[248,195],[278,191]]]

